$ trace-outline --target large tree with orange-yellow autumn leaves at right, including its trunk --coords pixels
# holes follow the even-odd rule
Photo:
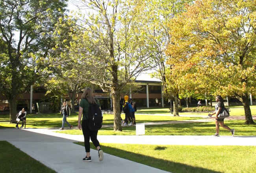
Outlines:
[[[256,2],[197,0],[170,22],[167,53],[184,85],[202,94],[236,96],[246,123],[254,123],[249,94],[256,86]],[[193,82],[194,81],[194,82]]]

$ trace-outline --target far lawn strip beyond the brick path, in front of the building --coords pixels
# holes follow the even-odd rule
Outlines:
[[[256,106],[250,106],[252,115],[256,115]],[[242,106],[230,107],[231,116],[244,116],[244,110]],[[150,115],[145,115],[150,114]],[[163,116],[154,116],[154,114],[162,114]],[[191,113],[191,112],[180,112],[180,115],[199,115],[207,116],[206,113]],[[124,114],[121,115],[124,118]],[[161,121],[180,121],[180,120],[197,120],[199,118],[189,118],[189,117],[173,117],[168,108],[159,109],[139,109],[135,112],[135,117],[137,123],[144,122],[161,122]],[[61,127],[62,116],[60,113],[53,114],[28,114],[27,115],[27,127],[30,128],[51,128],[51,127]],[[77,126],[78,113],[71,114],[67,120],[73,126]],[[9,115],[0,115],[0,121],[9,121]],[[113,114],[104,114],[103,118],[105,125],[113,124]],[[0,122],[0,128],[14,127],[14,124],[7,122]]]

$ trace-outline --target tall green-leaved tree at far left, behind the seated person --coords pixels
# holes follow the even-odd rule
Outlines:
[[[0,1],[0,92],[16,120],[16,98],[48,74],[48,56],[54,47],[54,24],[63,15],[66,0]]]

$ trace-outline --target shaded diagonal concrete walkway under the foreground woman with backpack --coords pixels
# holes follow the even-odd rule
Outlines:
[[[53,132],[46,129],[0,129],[0,140],[8,141],[58,173],[166,173],[166,171],[106,153],[104,153],[104,160],[99,162],[98,152],[93,149],[91,149],[92,162],[84,162],[82,158],[85,156],[85,148],[73,144],[73,142],[83,141],[82,135],[71,135],[74,137],[72,139],[52,134]],[[123,166],[127,169],[122,169]]]

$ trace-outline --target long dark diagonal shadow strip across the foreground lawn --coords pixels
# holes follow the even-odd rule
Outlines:
[[[83,142],[74,142],[74,143],[84,146]],[[90,145],[94,146],[92,143],[90,143]],[[213,170],[205,169],[202,167],[195,167],[187,164],[182,164],[182,163],[172,162],[169,160],[164,160],[161,158],[156,158],[153,156],[141,155],[141,154],[133,153],[130,151],[125,151],[122,149],[109,147],[104,144],[101,144],[100,146],[102,148],[104,147],[104,152],[110,155],[118,156],[127,160],[131,160],[140,164],[155,167],[157,169],[161,169],[161,170],[172,172],[172,173],[220,173],[218,171],[213,171]],[[158,149],[164,149],[164,147],[160,147]]]

